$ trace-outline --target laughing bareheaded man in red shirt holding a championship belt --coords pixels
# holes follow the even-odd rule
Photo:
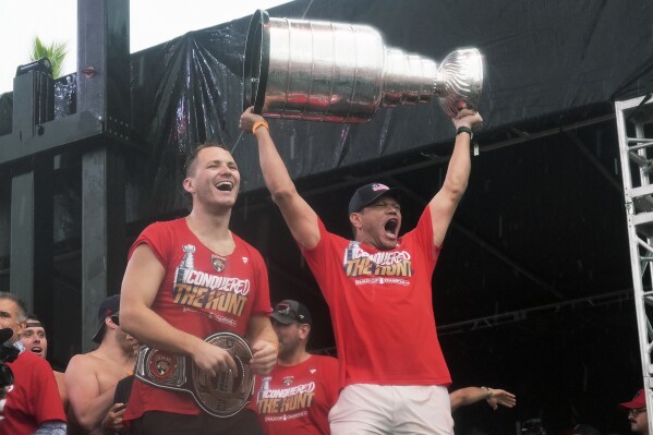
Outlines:
[[[277,361],[267,268],[261,253],[229,229],[240,191],[238,165],[225,147],[204,144],[191,153],[184,173],[190,215],[150,225],[129,253],[120,324],[157,357],[143,376],[137,370],[124,421],[136,435],[262,434],[256,413],[246,408],[249,395],[220,414],[196,402],[192,391],[167,389],[158,380],[172,373],[171,361],[183,360],[189,370],[223,379],[207,388],[230,385],[228,376],[244,373],[235,360],[244,360],[205,341],[216,333],[230,334],[233,343],[249,341],[252,373],[268,373]]]

